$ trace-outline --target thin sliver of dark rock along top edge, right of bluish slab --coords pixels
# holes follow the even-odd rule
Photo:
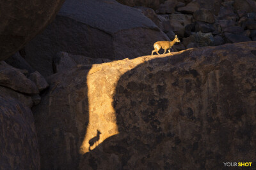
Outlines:
[[[156,10],[166,0],[116,0],[128,6],[145,6]]]

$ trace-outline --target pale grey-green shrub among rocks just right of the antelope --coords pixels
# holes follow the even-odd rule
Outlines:
[[[189,43],[196,43],[198,46],[211,46],[214,45],[214,39],[211,32],[196,32],[191,34],[188,38],[184,38],[182,43],[185,46],[188,46]]]

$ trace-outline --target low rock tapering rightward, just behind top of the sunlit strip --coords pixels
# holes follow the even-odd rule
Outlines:
[[[52,60],[52,67],[54,73],[59,73],[62,71],[68,71],[72,67],[76,67],[77,64],[100,64],[103,62],[110,62],[109,59],[92,59],[89,57],[84,57],[83,55],[72,55],[67,52],[60,52],[54,56]]]

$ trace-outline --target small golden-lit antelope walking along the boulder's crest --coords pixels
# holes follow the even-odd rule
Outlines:
[[[152,51],[151,55],[153,55],[154,52],[156,52],[159,55],[158,51],[161,48],[164,49],[164,53],[166,53],[166,50],[168,50],[168,52],[170,53],[170,48],[172,48],[172,46],[175,43],[179,43],[179,42],[180,42],[180,40],[177,35],[175,35],[175,38],[173,39],[173,41],[157,41],[156,43],[154,43],[155,50]]]

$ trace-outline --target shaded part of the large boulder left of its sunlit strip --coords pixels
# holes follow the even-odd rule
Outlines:
[[[91,66],[77,66],[47,78],[49,90],[32,108],[41,169],[78,169],[80,147],[88,126],[87,74]],[[97,142],[97,136],[92,139]]]

